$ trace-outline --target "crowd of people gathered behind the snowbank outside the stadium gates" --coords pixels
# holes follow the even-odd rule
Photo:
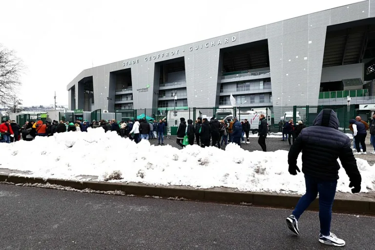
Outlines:
[[[355,120],[349,121],[349,129],[353,132],[353,151],[354,154],[367,154],[365,139],[367,136],[367,130],[370,129],[371,144],[374,146],[375,143],[375,114],[370,122],[369,126],[365,121],[361,120],[360,116],[357,116]],[[280,121],[279,132],[282,132],[282,140],[289,142],[292,146],[295,139],[301,133],[302,129],[306,126],[302,121],[298,121],[295,125],[293,120]],[[111,121],[80,121],[73,122],[64,121],[52,121],[43,123],[42,120],[36,122],[26,122],[20,126],[16,121],[4,121],[0,125],[1,138],[0,142],[11,143],[19,140],[32,141],[36,136],[52,136],[55,133],[78,131],[87,132],[87,128],[98,128],[102,127],[105,132],[116,131],[121,137],[129,137],[139,143],[141,140],[154,140],[158,139],[158,145],[164,145],[164,135],[167,128],[167,122],[165,120],[146,120],[135,119],[127,122],[117,122],[115,119]],[[247,119],[240,122],[237,117],[233,120],[228,119],[227,122],[219,122],[215,118],[211,118],[208,121],[207,118],[198,117],[195,122],[192,120],[185,120],[180,118],[180,124],[177,129],[177,145],[185,147],[187,145],[193,145],[196,143],[201,147],[216,146],[227,146],[228,143],[235,143],[239,146],[242,144],[249,144],[250,134],[250,123]],[[267,151],[266,138],[268,134],[268,124],[264,115],[260,115],[260,122],[258,128],[258,143],[263,151]],[[185,141],[185,142],[184,142]],[[375,146],[372,154],[375,154]]]

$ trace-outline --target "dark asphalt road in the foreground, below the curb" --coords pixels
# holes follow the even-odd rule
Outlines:
[[[1,250],[315,250],[317,212],[0,185]],[[345,249],[375,249],[375,217],[333,214]]]

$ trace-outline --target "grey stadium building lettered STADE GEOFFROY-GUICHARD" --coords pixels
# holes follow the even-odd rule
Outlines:
[[[85,69],[69,109],[373,104],[374,58],[367,0]]]

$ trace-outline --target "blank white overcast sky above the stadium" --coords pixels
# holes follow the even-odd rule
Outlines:
[[[360,0],[0,0],[0,43],[27,66],[24,105],[68,103],[83,69]]]

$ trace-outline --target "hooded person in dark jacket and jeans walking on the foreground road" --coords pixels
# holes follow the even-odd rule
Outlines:
[[[296,175],[297,158],[302,151],[302,172],[305,174],[306,194],[303,195],[287,224],[292,232],[299,234],[298,219],[319,193],[319,242],[344,246],[345,241],[331,233],[332,205],[336,193],[338,169],[337,158],[349,176],[353,193],[361,190],[361,175],[350,146],[350,139],[338,131],[338,119],[332,109],[323,109],[313,125],[302,129],[288,154],[289,173]]]

